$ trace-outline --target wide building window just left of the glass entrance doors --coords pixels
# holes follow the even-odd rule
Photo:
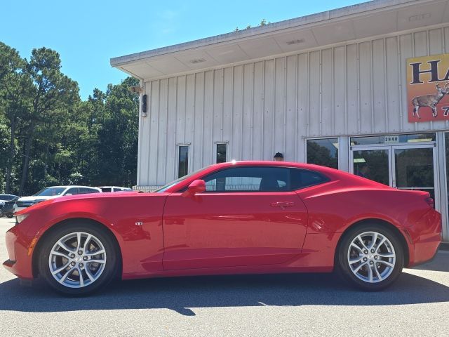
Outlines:
[[[338,169],[338,138],[307,140],[307,163]]]

